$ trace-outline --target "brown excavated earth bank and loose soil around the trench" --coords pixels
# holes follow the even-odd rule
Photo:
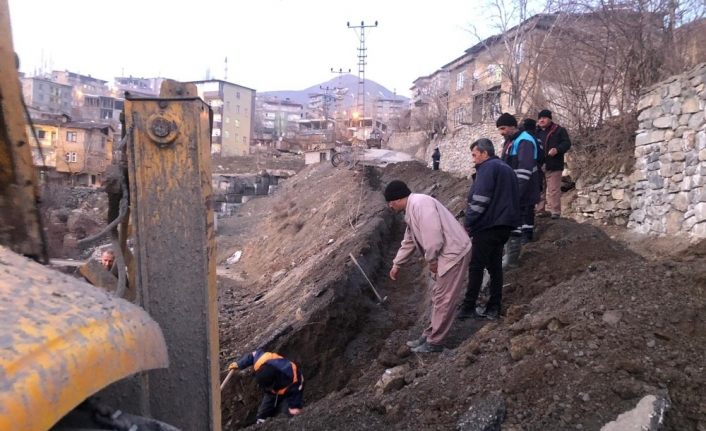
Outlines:
[[[706,242],[648,259],[598,227],[539,219],[506,273],[503,318],[457,322],[443,353],[413,354],[404,342],[425,325],[429,281],[422,262],[387,278],[404,229],[381,194],[393,179],[465,206],[467,180],[415,162],[322,164],[220,223],[221,369],[264,347],[305,376],[304,412],[259,428],[456,429],[490,405],[504,430],[598,430],[663,391],[666,429],[706,429]],[[376,387],[397,366],[402,378]],[[259,398],[239,372],[222,393],[224,429],[253,424]]]

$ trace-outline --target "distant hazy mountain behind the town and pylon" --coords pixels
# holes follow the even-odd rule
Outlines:
[[[345,94],[344,97],[344,107],[348,108],[355,105],[355,98],[358,93],[358,77],[351,74],[341,75],[340,78],[329,79],[326,82],[320,84],[312,85],[309,88],[303,90],[281,90],[281,91],[263,91],[258,93],[258,97],[264,98],[278,98],[280,100],[289,99],[292,102],[301,103],[306,108],[309,104],[309,94],[311,93],[323,93],[324,90],[321,87],[333,88],[343,88],[340,93]],[[371,106],[375,99],[401,99],[407,101],[406,97],[395,95],[394,92],[388,90],[377,82],[366,79],[365,80],[365,104]]]

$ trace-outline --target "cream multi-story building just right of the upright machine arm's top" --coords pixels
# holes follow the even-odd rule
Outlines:
[[[211,152],[223,157],[250,153],[255,90],[228,81],[194,81],[199,97],[213,110]]]

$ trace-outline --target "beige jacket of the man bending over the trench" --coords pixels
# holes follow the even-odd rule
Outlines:
[[[393,265],[410,260],[418,249],[427,263],[438,263],[438,275],[443,276],[471,250],[471,240],[445,206],[431,196],[412,193],[407,198],[404,238]]]

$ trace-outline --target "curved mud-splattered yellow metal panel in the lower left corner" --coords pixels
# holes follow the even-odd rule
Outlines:
[[[0,430],[46,430],[110,383],[168,365],[142,308],[0,246]]]

